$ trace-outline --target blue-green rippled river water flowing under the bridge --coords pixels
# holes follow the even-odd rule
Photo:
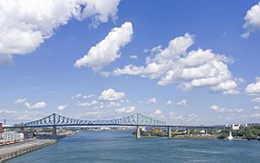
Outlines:
[[[130,130],[87,131],[5,162],[260,162],[260,141],[135,139]]]

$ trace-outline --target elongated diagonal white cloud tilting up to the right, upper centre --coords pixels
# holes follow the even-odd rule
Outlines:
[[[111,32],[95,46],[83,58],[75,62],[76,67],[87,66],[94,71],[100,71],[105,65],[114,62],[120,58],[120,48],[130,43],[133,34],[132,24],[126,22],[119,28],[115,27]]]

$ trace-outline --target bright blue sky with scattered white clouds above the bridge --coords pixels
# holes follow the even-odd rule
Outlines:
[[[260,122],[257,0],[0,0],[0,122]]]

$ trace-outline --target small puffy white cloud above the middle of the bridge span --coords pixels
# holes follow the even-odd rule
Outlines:
[[[101,96],[99,97],[100,101],[119,101],[120,99],[125,97],[124,92],[117,92],[113,89],[104,90],[101,92]]]

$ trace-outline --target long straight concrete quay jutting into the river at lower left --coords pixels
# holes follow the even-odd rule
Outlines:
[[[57,139],[34,139],[31,141],[2,146],[0,147],[0,163],[6,159],[14,158],[36,149],[42,149],[43,147],[52,145],[56,142]]]

